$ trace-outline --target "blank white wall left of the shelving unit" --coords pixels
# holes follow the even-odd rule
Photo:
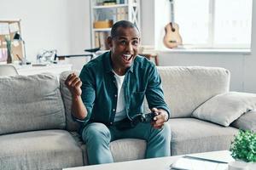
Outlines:
[[[36,60],[40,49],[84,54],[90,48],[88,0],[0,0],[0,7],[0,20],[21,19],[29,61]]]

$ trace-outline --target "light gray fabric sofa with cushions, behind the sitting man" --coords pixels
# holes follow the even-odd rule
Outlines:
[[[228,150],[238,128],[256,130],[255,94],[230,93],[230,71],[158,69],[172,111],[167,122],[172,156]],[[0,77],[0,169],[87,165],[86,146],[76,132],[79,124],[71,117],[71,95],[64,85],[69,73],[63,72],[60,81],[49,74]],[[146,142],[119,139],[110,148],[114,161],[143,159]]]

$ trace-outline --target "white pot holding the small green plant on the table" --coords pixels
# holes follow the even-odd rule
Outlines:
[[[230,161],[229,170],[255,170],[256,162]]]

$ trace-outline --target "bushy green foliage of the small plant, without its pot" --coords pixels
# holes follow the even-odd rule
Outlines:
[[[231,142],[230,151],[236,160],[256,162],[256,133],[240,130]]]

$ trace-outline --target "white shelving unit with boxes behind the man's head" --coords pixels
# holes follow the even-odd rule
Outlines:
[[[140,0],[90,0],[91,48],[108,50],[111,26],[119,20],[129,20],[140,29]]]

